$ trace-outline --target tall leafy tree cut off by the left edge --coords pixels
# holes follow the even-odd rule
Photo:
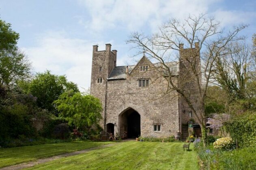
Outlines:
[[[17,47],[19,34],[11,24],[0,20],[0,86],[13,85],[16,80],[29,76],[30,63]]]

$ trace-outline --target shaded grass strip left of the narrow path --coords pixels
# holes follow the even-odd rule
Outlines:
[[[3,148],[0,149],[0,168],[22,162],[34,161],[42,157],[70,153],[109,143],[110,142],[74,141],[53,144],[39,144],[26,147]]]

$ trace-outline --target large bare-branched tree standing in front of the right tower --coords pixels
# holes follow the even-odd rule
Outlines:
[[[183,21],[170,19],[151,36],[134,32],[127,40],[127,43],[133,45],[132,48],[138,49],[137,54],[146,53],[149,60],[160,63],[163,78],[168,82],[166,93],[176,91],[181,100],[187,103],[201,127],[204,145],[207,138],[206,121],[210,117],[204,105],[207,87],[217,74],[216,61],[226,55],[226,48],[230,43],[245,38],[239,36],[239,32],[246,27],[234,26],[225,31],[213,17],[204,14],[189,15]],[[175,51],[180,52],[179,60]],[[185,68],[185,72],[179,73],[179,81],[173,76],[169,62],[177,62]]]

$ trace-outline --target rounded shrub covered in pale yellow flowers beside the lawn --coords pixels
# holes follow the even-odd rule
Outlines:
[[[232,138],[219,138],[213,143],[213,147],[217,149],[230,150],[234,149],[235,142]]]

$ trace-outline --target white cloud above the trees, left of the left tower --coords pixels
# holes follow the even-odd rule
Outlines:
[[[93,43],[67,35],[47,32],[37,37],[34,47],[23,48],[35,72],[51,70],[53,74],[67,75],[69,81],[82,88],[90,87]]]

